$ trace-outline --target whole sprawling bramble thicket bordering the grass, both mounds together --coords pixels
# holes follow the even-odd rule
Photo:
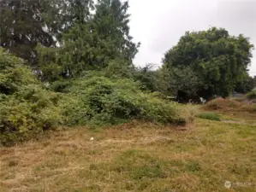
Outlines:
[[[88,71],[50,86],[39,82],[24,61],[3,49],[0,64],[3,144],[21,142],[61,125],[107,126],[131,119],[185,125],[193,119],[193,110],[145,91],[140,81],[133,80],[132,67],[119,67],[122,74],[115,62],[103,71]],[[110,77],[112,70],[116,75]]]

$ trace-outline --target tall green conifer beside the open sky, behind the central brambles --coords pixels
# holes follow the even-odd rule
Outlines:
[[[128,2],[103,0],[95,7],[91,19],[75,20],[63,34],[60,55],[63,71],[68,75],[103,68],[116,59],[132,64],[138,52],[140,44],[134,44],[129,35]]]

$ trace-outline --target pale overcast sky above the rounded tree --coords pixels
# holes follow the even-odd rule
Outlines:
[[[141,43],[135,65],[161,65],[164,52],[186,31],[223,27],[243,33],[256,48],[256,0],[129,0],[130,32]],[[250,74],[256,75],[256,49]]]

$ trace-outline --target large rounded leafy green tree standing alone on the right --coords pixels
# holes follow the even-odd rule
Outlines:
[[[225,29],[212,27],[207,31],[186,32],[165,53],[163,62],[172,73],[184,68],[191,70],[199,79],[197,94],[229,96],[246,73],[252,49],[253,45],[243,35],[229,36]]]

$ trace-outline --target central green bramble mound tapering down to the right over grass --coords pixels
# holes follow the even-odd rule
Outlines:
[[[67,103],[63,107],[67,109],[68,122],[73,124],[113,125],[129,119],[142,119],[184,125],[189,119],[181,115],[179,104],[141,91],[140,84],[131,79],[85,77],[75,80],[68,92],[77,98],[73,104]]]

